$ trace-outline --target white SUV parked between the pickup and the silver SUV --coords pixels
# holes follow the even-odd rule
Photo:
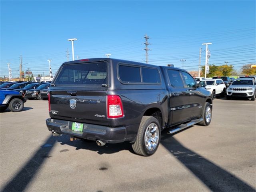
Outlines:
[[[212,99],[215,99],[218,94],[225,96],[226,85],[222,79],[202,80],[202,82],[206,82],[207,85],[204,88],[211,92]]]

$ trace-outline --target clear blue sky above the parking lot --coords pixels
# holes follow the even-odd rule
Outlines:
[[[53,74],[65,61],[69,38],[74,42],[75,58],[112,58],[145,62],[143,36],[148,34],[150,64],[174,64],[198,70],[199,50],[204,64],[205,46],[209,63],[224,61],[240,70],[255,63],[256,1],[13,1],[1,0],[0,76],[19,76],[19,57],[23,70],[34,76]]]

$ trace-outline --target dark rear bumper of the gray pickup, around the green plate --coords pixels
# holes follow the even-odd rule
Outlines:
[[[72,123],[72,121],[66,120],[46,119],[48,130],[54,130],[59,134],[66,134],[88,140],[99,139],[106,143],[120,143],[126,140],[132,140],[131,138],[126,138],[126,127],[111,128],[108,126],[83,123],[83,131],[79,132],[72,130]]]

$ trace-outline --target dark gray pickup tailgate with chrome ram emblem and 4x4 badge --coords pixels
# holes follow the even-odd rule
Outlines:
[[[107,125],[106,95],[106,90],[54,90],[50,93],[50,116]]]

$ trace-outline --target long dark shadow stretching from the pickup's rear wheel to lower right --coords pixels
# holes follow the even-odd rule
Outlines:
[[[256,191],[233,174],[184,147],[172,135],[163,133],[161,144],[211,191]]]

